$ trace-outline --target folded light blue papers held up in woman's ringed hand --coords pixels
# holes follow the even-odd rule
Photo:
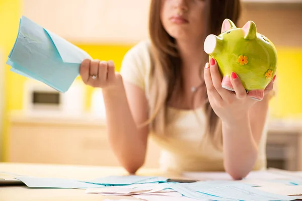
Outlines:
[[[66,92],[86,58],[92,59],[84,50],[22,16],[7,64],[12,72]]]

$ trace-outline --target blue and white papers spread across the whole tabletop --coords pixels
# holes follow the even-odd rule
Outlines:
[[[226,173],[225,173],[226,174]],[[17,176],[29,187],[44,188],[81,188],[85,193],[98,193],[103,196],[133,196],[153,200],[217,200],[217,201],[289,201],[301,198],[302,185],[299,178],[207,180],[191,183],[170,182],[157,176],[106,176],[92,180],[72,180],[63,178],[38,178]],[[173,179],[172,179],[173,180]],[[292,195],[292,196],[289,196]],[[124,198],[124,197],[122,197]]]

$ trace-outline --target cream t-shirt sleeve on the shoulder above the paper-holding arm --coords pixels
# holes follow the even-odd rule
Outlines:
[[[135,45],[125,54],[120,69],[124,82],[145,90],[146,69],[149,63],[147,55],[148,51],[144,43]]]

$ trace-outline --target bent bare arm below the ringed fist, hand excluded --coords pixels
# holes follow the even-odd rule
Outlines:
[[[104,90],[103,96],[110,145],[123,167],[135,173],[146,153],[148,127],[138,128],[147,120],[144,93],[125,83],[115,90]]]

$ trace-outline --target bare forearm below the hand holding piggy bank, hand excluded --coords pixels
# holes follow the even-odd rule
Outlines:
[[[265,96],[236,122],[222,122],[224,168],[234,179],[245,177],[255,165],[268,102]]]

